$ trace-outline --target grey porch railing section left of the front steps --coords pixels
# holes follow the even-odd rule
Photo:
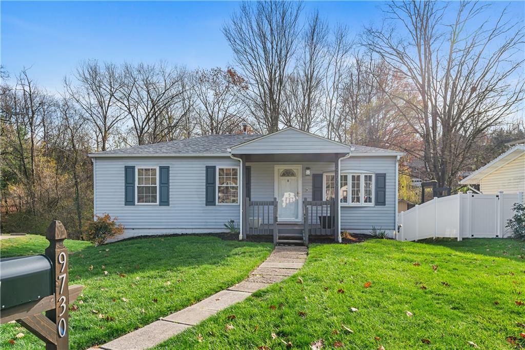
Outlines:
[[[272,234],[277,243],[277,198],[272,201],[250,201],[245,198],[244,227],[246,234]]]

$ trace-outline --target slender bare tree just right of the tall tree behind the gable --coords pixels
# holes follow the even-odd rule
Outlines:
[[[306,131],[317,126],[327,39],[328,25],[316,12],[302,34],[302,52],[285,86],[281,114],[286,126]]]

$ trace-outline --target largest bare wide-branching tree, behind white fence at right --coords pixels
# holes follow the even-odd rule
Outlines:
[[[385,90],[423,140],[421,158],[438,186],[457,181],[476,140],[524,99],[523,27],[506,20],[505,11],[494,23],[481,19],[487,8],[471,2],[393,2],[384,12],[398,28],[370,27],[364,37],[364,45],[417,94],[411,100]],[[453,11],[449,24],[445,13]],[[481,25],[468,32],[467,23]]]

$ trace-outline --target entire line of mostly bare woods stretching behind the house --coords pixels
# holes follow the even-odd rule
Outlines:
[[[440,186],[525,138],[522,23],[486,22],[479,3],[383,10],[384,23],[348,28],[301,3],[243,3],[222,28],[230,67],[87,59],[60,91],[2,67],[2,229],[56,218],[80,234],[93,215],[88,152],[237,133],[243,121],[402,150],[403,172]]]

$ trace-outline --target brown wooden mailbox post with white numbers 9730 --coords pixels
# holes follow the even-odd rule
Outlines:
[[[16,321],[46,343],[46,350],[69,348],[69,303],[80,295],[83,286],[69,286],[69,256],[64,240],[67,232],[60,221],[47,229],[49,246],[45,255],[52,263],[53,294],[36,301],[8,307],[0,314],[0,323]],[[31,288],[30,285],[27,288]],[[42,313],[46,312],[44,316]]]

